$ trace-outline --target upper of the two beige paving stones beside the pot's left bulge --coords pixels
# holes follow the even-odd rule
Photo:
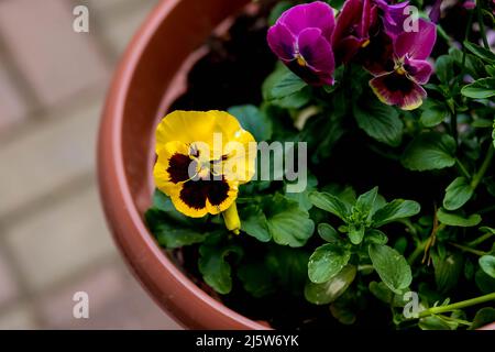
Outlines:
[[[0,218],[95,168],[101,98],[82,99],[50,121],[0,140]]]

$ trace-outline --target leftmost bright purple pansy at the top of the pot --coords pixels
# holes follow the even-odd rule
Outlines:
[[[299,4],[284,12],[268,30],[268,45],[308,84],[333,85],[336,62],[331,37],[334,26],[333,9],[328,3]]]

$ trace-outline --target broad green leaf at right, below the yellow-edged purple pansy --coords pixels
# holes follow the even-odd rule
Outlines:
[[[455,164],[455,141],[448,134],[426,132],[407,146],[402,162],[411,170],[429,170],[451,167]]]

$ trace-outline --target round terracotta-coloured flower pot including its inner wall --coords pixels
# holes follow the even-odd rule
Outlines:
[[[155,301],[186,328],[264,329],[197,287],[143,222],[153,191],[154,129],[206,38],[248,0],[164,0],[135,35],[110,88],[98,175],[108,222],[127,262]]]

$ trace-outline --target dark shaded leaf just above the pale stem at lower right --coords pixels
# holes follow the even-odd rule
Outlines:
[[[440,256],[432,253],[435,280],[440,293],[447,293],[454,288],[461,277],[464,261],[459,253]]]

